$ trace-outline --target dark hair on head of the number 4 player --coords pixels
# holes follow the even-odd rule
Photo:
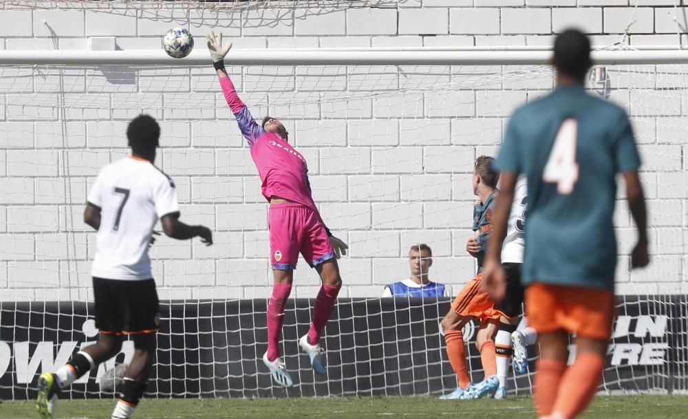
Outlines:
[[[557,71],[583,81],[591,65],[588,36],[575,29],[568,29],[557,35],[555,39]]]

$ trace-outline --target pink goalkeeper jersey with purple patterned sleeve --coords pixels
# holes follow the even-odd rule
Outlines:
[[[219,84],[227,104],[237,118],[239,129],[250,146],[251,158],[263,182],[261,192],[265,199],[270,201],[272,196],[281,197],[308,206],[317,213],[308,182],[308,165],[303,155],[276,133],[265,131],[255,122],[246,105],[239,99],[232,80],[222,77]]]

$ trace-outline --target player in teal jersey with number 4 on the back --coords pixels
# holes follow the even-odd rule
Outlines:
[[[581,32],[557,36],[552,64],[557,88],[513,113],[495,161],[502,195],[483,285],[494,299],[504,297],[499,250],[517,175],[524,173],[528,228],[522,278],[541,347],[535,403],[540,418],[572,419],[594,397],[611,334],[617,173],[623,173],[638,227],[632,267],[646,266],[649,257],[640,158],[627,114],[585,92],[592,63],[590,41]],[[576,334],[576,360],[566,367],[569,333]]]

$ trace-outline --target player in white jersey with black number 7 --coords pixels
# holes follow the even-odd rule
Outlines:
[[[136,352],[125,371],[120,399],[112,418],[129,418],[143,396],[155,358],[155,332],[160,327],[158,293],[151,275],[148,248],[160,219],[173,239],[201,237],[213,244],[211,230],[179,221],[175,184],[153,166],[160,127],[147,115],[127,127],[132,154],[108,164],[91,187],[84,222],[98,230],[92,275],[95,345],[80,350],[54,373],[41,374],[37,407],[43,419],[54,418],[60,389],[74,383],[99,363],[116,356],[130,336]]]

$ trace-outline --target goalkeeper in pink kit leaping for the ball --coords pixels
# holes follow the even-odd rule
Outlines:
[[[299,345],[310,356],[314,371],[326,374],[320,334],[330,319],[341,288],[337,259],[340,254],[346,255],[347,245],[333,237],[325,227],[311,196],[308,166],[303,155],[288,143],[287,130],[279,120],[269,116],[264,118],[262,125],[258,125],[237,96],[224,68],[224,56],[232,43],[222,45],[222,34],[215,37],[213,32],[206,36],[206,40],[224,97],[237,118],[263,182],[263,196],[270,202],[268,228],[275,283],[268,303],[268,351],[263,355],[263,362],[279,385],[291,387],[294,382],[279,356],[279,338],[284,322],[284,304],[292,290],[299,253],[318,271],[323,281],[315,300],[310,330],[299,339]]]

